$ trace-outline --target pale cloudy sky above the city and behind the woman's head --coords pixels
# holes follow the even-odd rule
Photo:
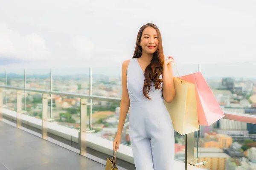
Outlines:
[[[137,32],[149,22],[161,31],[165,55],[173,56],[183,69],[196,63],[247,62],[238,64],[246,69],[248,62],[256,61],[255,0],[0,0],[0,4],[1,70],[119,67],[131,59]],[[233,65],[222,71],[236,70]],[[216,74],[215,68],[209,74]]]

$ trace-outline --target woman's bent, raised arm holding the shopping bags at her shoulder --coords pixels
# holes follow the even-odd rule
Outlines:
[[[163,98],[166,102],[172,102],[175,97],[174,77],[172,71],[173,58],[168,57],[163,66]]]

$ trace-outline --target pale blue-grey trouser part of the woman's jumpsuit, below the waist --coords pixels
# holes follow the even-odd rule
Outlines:
[[[131,102],[130,139],[136,170],[173,170],[174,130],[162,100]]]

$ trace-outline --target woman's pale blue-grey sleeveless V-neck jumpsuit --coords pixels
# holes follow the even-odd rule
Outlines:
[[[136,170],[173,170],[174,130],[163,102],[162,88],[151,87],[149,100],[143,95],[144,79],[137,58],[131,59],[127,69],[127,88],[131,103],[130,139],[134,164]]]

